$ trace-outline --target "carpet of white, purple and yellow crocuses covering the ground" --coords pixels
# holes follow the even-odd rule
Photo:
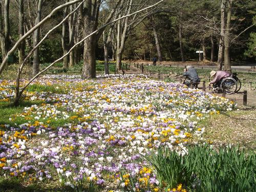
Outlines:
[[[0,80],[0,101],[12,99],[14,84]],[[225,98],[144,75],[94,80],[46,75],[33,84],[54,87],[56,93],[26,91],[24,100],[41,103],[9,119],[26,123],[1,125],[0,173],[71,189],[94,185],[121,191],[133,176],[136,191],[161,190],[143,155],[163,145],[186,154],[187,143],[202,139],[199,120],[234,107]],[[185,191],[182,185],[174,190]]]

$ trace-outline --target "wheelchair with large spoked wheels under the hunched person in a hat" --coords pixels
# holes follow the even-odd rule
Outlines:
[[[237,93],[241,89],[241,81],[237,77],[237,73],[233,73],[230,77],[225,77],[214,84],[213,88],[216,92],[222,92],[222,90],[225,89],[226,94]]]

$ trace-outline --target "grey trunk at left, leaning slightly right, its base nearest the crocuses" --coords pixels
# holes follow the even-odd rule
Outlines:
[[[41,21],[42,2],[43,0],[38,0],[37,17],[36,17],[35,25],[37,25]],[[35,47],[39,42],[39,33],[40,33],[40,28],[37,28],[34,31],[33,47]],[[33,76],[35,76],[37,73],[39,73],[39,49],[38,48],[35,49],[34,51]]]

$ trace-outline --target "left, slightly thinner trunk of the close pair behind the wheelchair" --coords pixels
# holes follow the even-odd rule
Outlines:
[[[218,70],[222,70],[223,63],[223,51],[224,51],[224,35],[225,35],[225,4],[226,0],[222,0],[221,3],[221,37],[219,45],[219,54],[218,54]]]

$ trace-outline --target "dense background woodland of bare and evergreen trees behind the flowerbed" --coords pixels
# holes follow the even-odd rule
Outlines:
[[[68,2],[72,1],[1,1],[1,57],[5,56],[19,37],[38,24],[54,8]],[[33,75],[39,72],[39,63],[51,63],[58,59],[85,35],[100,26],[158,1],[83,1],[78,8],[81,2],[77,1],[63,7],[51,15],[44,25],[19,45],[18,50],[11,55],[13,61],[22,63],[48,31],[73,12],[66,22],[53,33],[49,33],[46,40],[30,56],[29,63],[33,65]],[[88,10],[91,11],[90,15],[87,13]],[[63,68],[72,67],[80,60],[83,60],[84,66],[87,62],[90,63],[89,66],[95,66],[92,64],[95,63],[95,59],[102,60],[104,57],[105,60],[106,57],[117,60],[119,67],[122,59],[151,60],[154,56],[157,56],[159,61],[184,62],[198,60],[196,51],[199,50],[203,51],[200,59],[218,61],[218,65],[222,65],[224,55],[230,57],[226,60],[254,62],[255,13],[254,1],[166,0],[155,8],[104,27],[92,36],[89,44],[84,41],[84,44],[75,47],[69,56],[64,57]],[[91,19],[90,22],[87,22],[87,15]],[[85,46],[90,47],[87,54]],[[93,59],[86,58],[86,55]],[[84,68],[84,71],[88,69]],[[94,72],[92,74],[94,76]]]

